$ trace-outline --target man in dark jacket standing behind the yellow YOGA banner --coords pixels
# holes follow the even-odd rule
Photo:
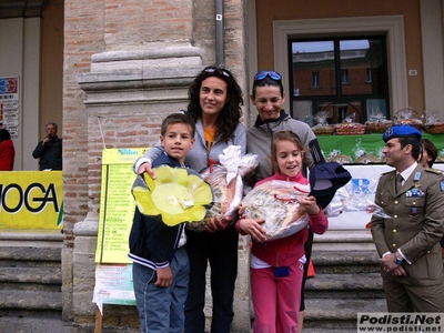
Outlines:
[[[47,137],[40,141],[32,157],[39,160],[39,170],[62,170],[62,139],[57,135],[57,123],[47,124]]]

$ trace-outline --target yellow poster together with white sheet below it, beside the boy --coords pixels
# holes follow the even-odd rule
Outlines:
[[[132,264],[128,259],[128,240],[135,210],[131,188],[137,175],[132,165],[145,152],[147,149],[125,148],[105,149],[102,153],[95,285],[92,299],[101,314],[103,304],[135,304]]]

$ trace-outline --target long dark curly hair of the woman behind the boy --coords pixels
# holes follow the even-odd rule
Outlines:
[[[220,67],[204,68],[190,85],[188,91],[189,104],[186,110],[194,121],[202,119],[200,91],[202,81],[211,77],[219,78],[226,83],[226,101],[218,117],[218,129],[215,133],[215,138],[226,142],[230,140],[239,124],[242,117],[241,107],[243,105],[242,90],[229,70]]]

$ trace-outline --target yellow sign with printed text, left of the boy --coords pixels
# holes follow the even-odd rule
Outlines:
[[[103,150],[98,263],[131,263],[128,241],[135,210],[131,188],[137,178],[132,165],[145,152],[142,148]]]

